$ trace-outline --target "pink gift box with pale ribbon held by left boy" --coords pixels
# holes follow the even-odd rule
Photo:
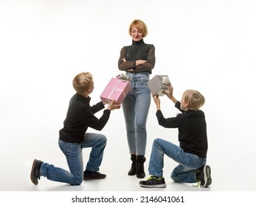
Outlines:
[[[117,104],[121,104],[130,90],[130,82],[112,77],[100,95],[102,102],[110,103],[113,99]]]

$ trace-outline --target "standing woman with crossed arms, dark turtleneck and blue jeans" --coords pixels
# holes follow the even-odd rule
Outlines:
[[[156,61],[155,46],[144,43],[143,38],[148,35],[148,28],[141,20],[132,21],[128,33],[131,35],[132,44],[122,47],[118,60],[118,68],[126,71],[131,84],[131,90],[122,102],[132,161],[128,175],[136,174],[136,177],[144,178],[146,123],[151,105],[151,92],[147,82]]]

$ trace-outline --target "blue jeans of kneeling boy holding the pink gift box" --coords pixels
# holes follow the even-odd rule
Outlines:
[[[86,170],[99,171],[103,160],[103,152],[107,139],[104,135],[86,133],[83,143],[68,143],[58,141],[61,151],[66,156],[69,171],[58,168],[49,163],[42,163],[40,176],[56,182],[66,182],[70,185],[80,185],[83,182],[83,148],[91,147]]]

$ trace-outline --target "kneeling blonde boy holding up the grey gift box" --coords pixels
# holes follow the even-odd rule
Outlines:
[[[140,181],[145,188],[165,188],[163,177],[164,154],[179,163],[173,169],[170,177],[175,182],[200,182],[202,188],[212,183],[211,169],[207,166],[207,124],[204,112],[199,110],[203,106],[204,96],[197,90],[184,91],[181,102],[173,96],[173,87],[168,86],[166,96],[173,101],[175,107],[181,111],[176,117],[165,118],[160,108],[159,96],[153,96],[156,104],[156,117],[159,125],[165,128],[179,129],[179,146],[156,138],[153,141],[151,160],[148,166],[151,177]]]

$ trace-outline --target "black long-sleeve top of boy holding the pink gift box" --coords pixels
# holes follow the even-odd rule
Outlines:
[[[93,129],[101,130],[105,127],[110,116],[110,110],[104,110],[100,118],[94,116],[100,110],[103,110],[103,102],[99,102],[90,106],[90,97],[84,97],[79,93],[75,93],[69,101],[69,109],[64,120],[63,128],[60,129],[60,140],[70,143],[82,143],[84,135],[91,127]]]

